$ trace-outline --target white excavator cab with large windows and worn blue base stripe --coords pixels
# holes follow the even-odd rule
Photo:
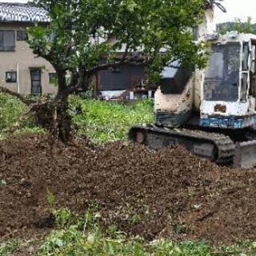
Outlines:
[[[226,34],[211,46],[202,82],[200,126],[243,129],[256,123],[256,36]]]

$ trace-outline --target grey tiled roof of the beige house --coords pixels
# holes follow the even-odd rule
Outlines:
[[[30,4],[0,2],[0,22],[49,22],[46,10]]]

